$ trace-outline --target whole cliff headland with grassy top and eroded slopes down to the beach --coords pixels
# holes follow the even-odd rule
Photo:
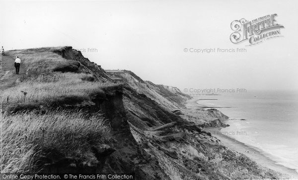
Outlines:
[[[127,70],[104,70],[71,47],[9,54],[22,56],[28,69],[22,82],[1,92],[6,148],[0,162],[6,173],[278,178],[205,131],[203,126],[221,126],[227,117],[217,110],[186,109],[190,97],[178,88],[144,81]],[[46,73],[35,68],[40,62]],[[19,157],[25,163],[14,163]]]

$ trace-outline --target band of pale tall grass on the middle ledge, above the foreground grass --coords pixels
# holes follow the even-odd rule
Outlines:
[[[3,110],[15,112],[41,106],[92,104],[92,97],[104,97],[121,86],[86,81],[84,78],[91,77],[86,74],[68,72],[55,73],[55,75],[51,75],[54,77],[52,81],[46,76],[38,76],[34,80],[25,80],[17,86],[4,90],[0,95]]]

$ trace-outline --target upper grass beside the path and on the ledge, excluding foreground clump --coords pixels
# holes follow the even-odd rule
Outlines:
[[[66,72],[80,63],[53,53],[56,49],[59,48],[6,52],[12,57],[19,56],[28,67],[28,74],[22,83],[1,92],[3,111],[90,104],[92,96],[105,96],[120,87],[119,84],[96,82],[91,74]]]

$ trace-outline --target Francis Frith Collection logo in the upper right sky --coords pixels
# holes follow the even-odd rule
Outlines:
[[[263,42],[264,40],[281,37],[283,25],[276,21],[277,14],[269,14],[254,20],[248,21],[244,18],[231,22],[231,29],[234,31],[230,35],[230,41],[238,44],[248,41],[249,45]]]

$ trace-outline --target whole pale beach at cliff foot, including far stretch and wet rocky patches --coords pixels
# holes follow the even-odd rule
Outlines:
[[[193,99],[189,100],[187,102],[186,107],[190,109],[209,109],[211,106],[212,108],[218,109],[221,111],[221,106],[216,106],[214,103],[206,103],[205,99],[217,99],[218,96],[212,97],[209,96],[208,98],[205,98],[206,96],[199,96],[194,97]],[[226,116],[229,116],[228,114],[225,114]],[[240,120],[225,120],[223,123],[225,124],[237,124]],[[245,120],[244,120],[245,121]],[[233,125],[234,125],[233,124]],[[206,128],[206,130],[210,131],[213,136],[217,137],[227,148],[229,148],[232,151],[239,152],[241,154],[246,155],[250,159],[254,160],[257,164],[272,169],[274,171],[277,171],[279,173],[283,174],[283,179],[298,179],[298,173],[295,169],[287,168],[283,165],[278,164],[278,162],[274,161],[273,158],[269,158],[270,154],[262,151],[261,149],[257,148],[256,146],[251,146],[249,144],[245,144],[239,140],[236,140],[235,135],[242,136],[242,139],[249,139],[249,134],[246,134],[245,131],[237,131],[237,130],[231,130],[231,128],[227,128],[228,130],[224,130],[224,128]],[[239,128],[240,129],[240,128]],[[237,134],[238,133],[238,134]],[[233,136],[234,135],[234,136]],[[238,137],[239,137],[238,136]],[[239,139],[241,139],[239,138]]]

